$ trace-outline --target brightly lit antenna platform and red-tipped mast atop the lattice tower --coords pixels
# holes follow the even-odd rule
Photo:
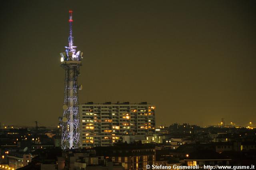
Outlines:
[[[69,36],[68,36],[68,46],[65,46],[66,52],[60,53],[60,61],[81,61],[83,53],[81,51],[76,51],[76,46],[74,46],[74,38],[72,35],[72,10],[69,10]]]

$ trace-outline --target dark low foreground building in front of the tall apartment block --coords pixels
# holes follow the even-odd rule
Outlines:
[[[58,170],[145,170],[148,164],[155,164],[153,144],[98,146],[67,151],[58,158]]]

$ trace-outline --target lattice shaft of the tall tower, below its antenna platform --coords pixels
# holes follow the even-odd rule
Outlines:
[[[65,69],[61,147],[62,149],[80,148],[77,83],[80,61],[64,61],[61,66]]]

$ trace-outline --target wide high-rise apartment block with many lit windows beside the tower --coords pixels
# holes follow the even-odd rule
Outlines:
[[[154,132],[155,109],[155,105],[146,102],[81,104],[82,147],[111,146],[124,134]]]

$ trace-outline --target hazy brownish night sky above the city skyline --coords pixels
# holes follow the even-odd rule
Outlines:
[[[57,126],[70,9],[80,103],[147,101],[157,125],[256,122],[255,1],[1,0],[2,124]]]

